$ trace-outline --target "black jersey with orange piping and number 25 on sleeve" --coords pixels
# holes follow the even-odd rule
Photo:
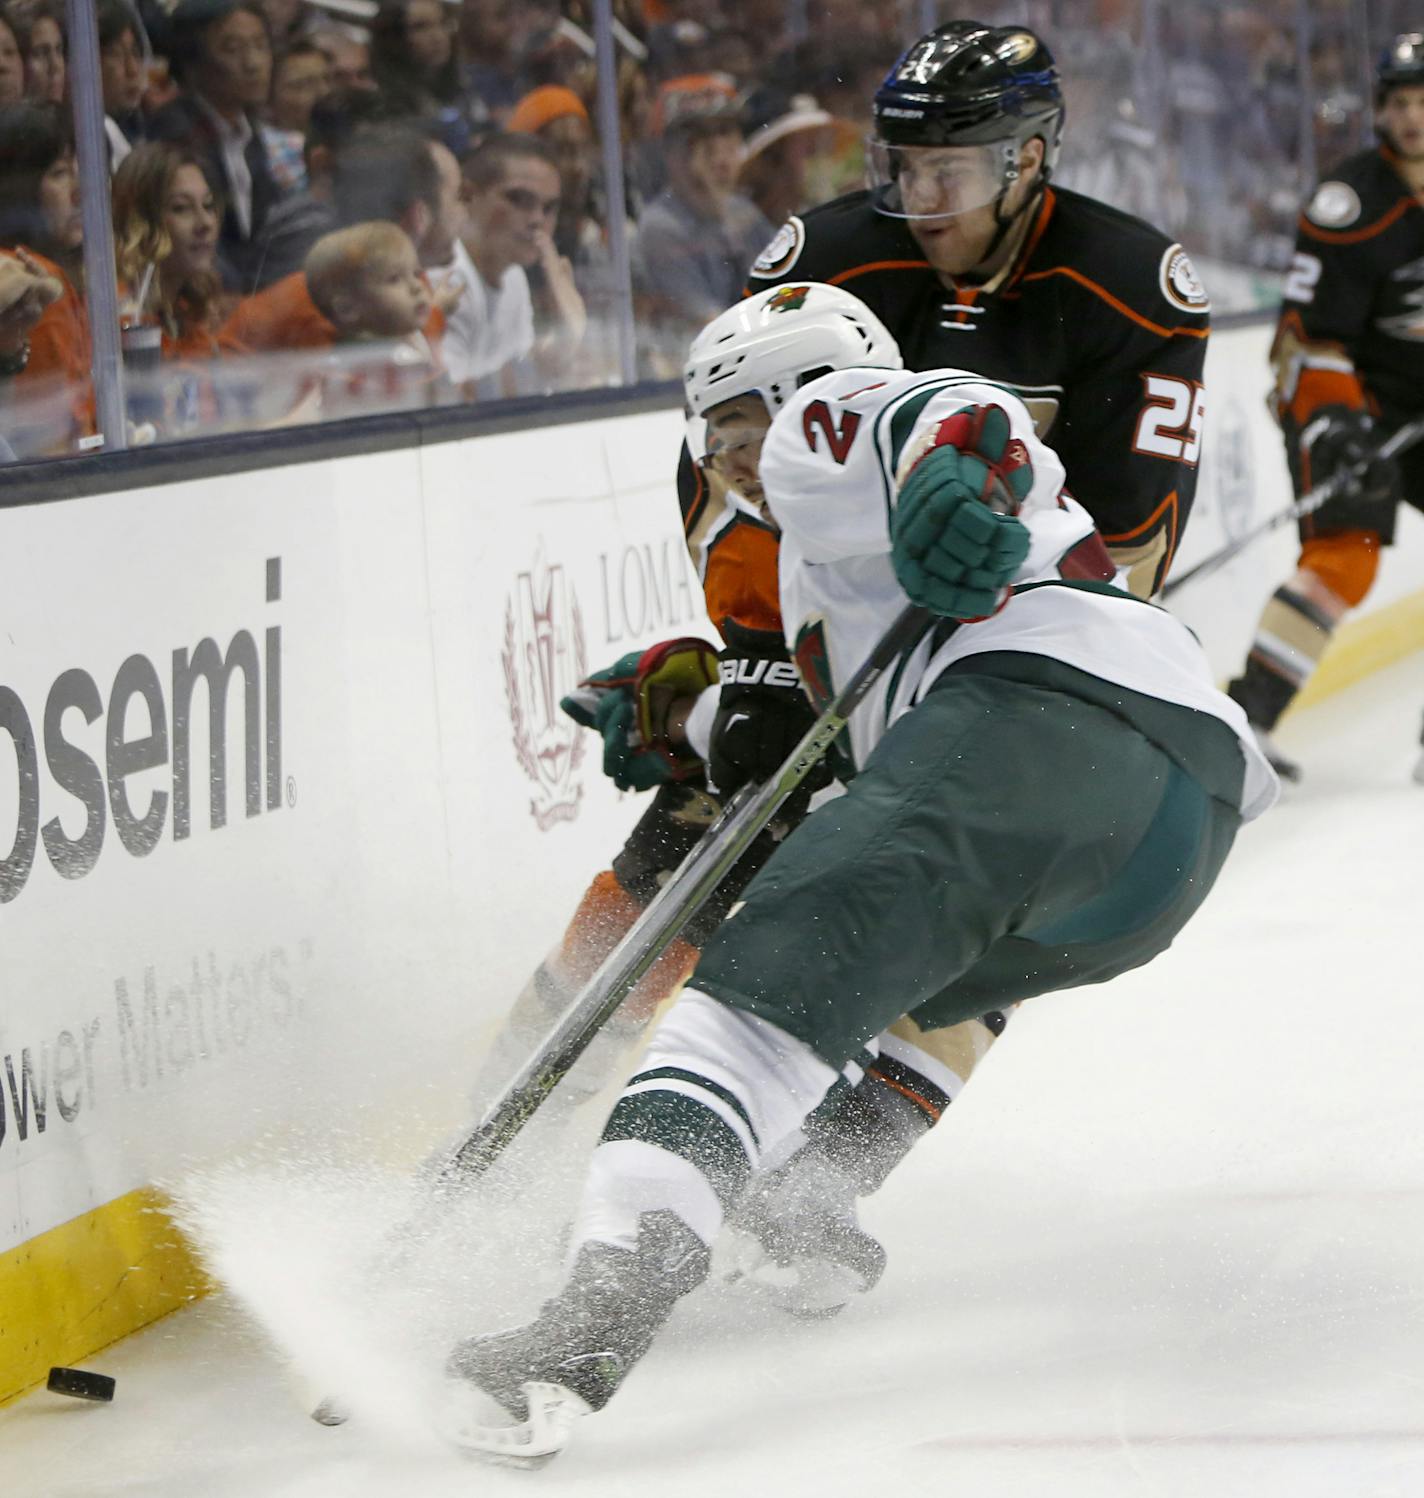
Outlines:
[[[1208,301],[1181,246],[1048,189],[1008,274],[952,291],[898,219],[849,193],[788,220],[750,291],[824,280],[867,303],[907,369],[1012,389],[1135,592],[1160,586],[1196,491]]]

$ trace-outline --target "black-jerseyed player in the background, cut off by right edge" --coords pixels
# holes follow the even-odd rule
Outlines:
[[[1301,214],[1271,348],[1276,412],[1295,491],[1358,466],[1424,415],[1424,33],[1396,37],[1376,72],[1379,144],[1342,162]],[[1343,616],[1369,593],[1399,502],[1424,509],[1424,445],[1372,463],[1300,524],[1294,575],[1261,616],[1231,695],[1276,768],[1271,742]],[[1415,774],[1424,777],[1424,759]]]

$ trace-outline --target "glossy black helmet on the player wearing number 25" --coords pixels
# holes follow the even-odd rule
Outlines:
[[[1047,178],[1063,135],[1063,90],[1053,54],[1023,25],[948,21],[886,73],[871,103],[886,145],[1021,147],[1039,136]]]

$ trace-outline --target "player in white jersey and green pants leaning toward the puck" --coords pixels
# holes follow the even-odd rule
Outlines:
[[[894,1022],[1150,962],[1279,789],[1192,634],[1120,586],[1021,403],[898,366],[874,315],[819,283],[752,297],[692,346],[689,406],[758,464],[782,527],[812,697],[907,601],[934,617],[852,718],[845,794],[773,854],[654,1032],[563,1288],[451,1353],[448,1429],[470,1450],[547,1459],[608,1402],[755,1171]],[[714,706],[662,716],[699,746]]]

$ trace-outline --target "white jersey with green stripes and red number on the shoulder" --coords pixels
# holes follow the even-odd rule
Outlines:
[[[898,481],[940,421],[991,403],[1008,412],[1033,464],[1033,487],[1020,511],[1032,538],[1029,556],[999,613],[969,623],[937,620],[882,677],[848,730],[855,764],[865,764],[885,730],[951,665],[1011,652],[1226,724],[1246,761],[1241,813],[1259,815],[1274,800],[1276,777],[1244,713],[1213,685],[1195,635],[1126,590],[1092,517],[1063,491],[1063,464],[1035,434],[1024,404],[961,370],[824,374],[771,424],[761,478],[782,527],[783,629],[807,689],[824,698],[845,683],[906,607],[889,556]]]

